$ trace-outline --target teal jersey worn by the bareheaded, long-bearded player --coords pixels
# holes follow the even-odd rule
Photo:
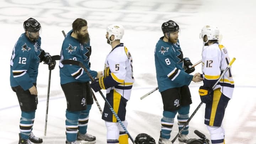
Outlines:
[[[80,66],[63,65],[61,62],[64,59],[73,59],[81,62],[93,78],[97,76],[97,71],[90,70],[90,41],[88,43],[81,44],[77,39],[71,37],[72,32],[73,30],[66,34],[62,44],[62,50],[60,52],[60,84],[91,81],[88,74]]]

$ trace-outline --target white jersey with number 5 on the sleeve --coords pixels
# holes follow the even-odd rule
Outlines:
[[[134,82],[132,55],[129,50],[123,46],[123,43],[116,46],[107,55],[105,68],[107,67],[110,68],[110,76],[112,76],[114,81],[119,83],[117,83],[118,85],[116,86],[108,88],[107,93],[115,89],[120,95],[129,100]]]

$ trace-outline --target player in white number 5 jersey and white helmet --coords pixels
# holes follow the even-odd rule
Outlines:
[[[95,92],[101,89],[107,90],[107,101],[127,127],[126,104],[130,99],[134,79],[132,56],[124,44],[120,43],[123,34],[124,28],[121,25],[107,27],[107,43],[111,45],[112,50],[106,57],[104,76],[93,81],[91,87]],[[128,144],[128,135],[106,103],[102,119],[107,127],[107,144]]]

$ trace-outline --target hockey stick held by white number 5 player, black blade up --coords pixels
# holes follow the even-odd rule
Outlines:
[[[91,74],[89,73],[89,71],[86,69],[86,67],[79,61],[77,60],[71,60],[71,59],[65,59],[62,61],[62,64],[71,64],[71,65],[78,65],[81,68],[83,68],[85,70],[85,72],[88,74],[88,76],[90,77],[91,81],[94,81],[94,79],[92,78]],[[107,101],[106,97],[103,95],[103,93],[101,92],[101,90],[99,90],[98,92],[100,92],[100,95],[102,96],[102,98],[105,100],[107,106],[110,108],[111,112],[114,114],[114,116],[116,117],[117,121],[119,122],[119,124],[122,126],[122,128],[124,129],[124,131],[127,133],[128,137],[130,138],[130,140],[132,141],[132,143],[134,144],[134,140],[133,138],[130,136],[128,130],[126,129],[126,127],[124,126],[124,124],[122,123],[121,119],[117,116],[116,112],[113,110],[112,106],[110,105],[110,103]]]

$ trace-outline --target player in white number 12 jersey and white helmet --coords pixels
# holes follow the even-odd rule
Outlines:
[[[212,87],[230,63],[230,59],[227,49],[218,43],[218,27],[204,26],[200,38],[203,39],[202,76],[204,80],[203,86],[199,88],[199,95],[202,102],[206,103],[204,124],[210,132],[212,144],[225,144],[222,121],[234,89],[231,68],[214,89]]]

